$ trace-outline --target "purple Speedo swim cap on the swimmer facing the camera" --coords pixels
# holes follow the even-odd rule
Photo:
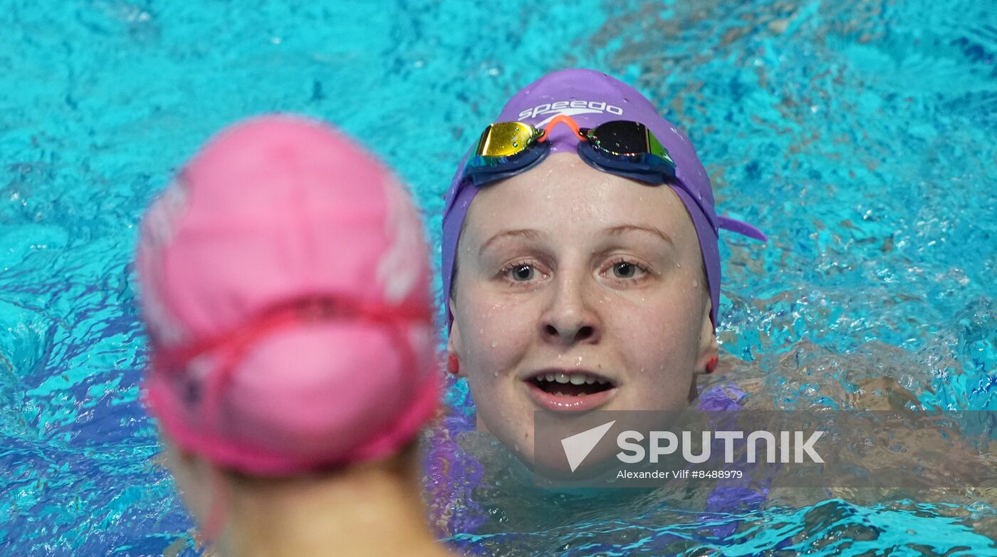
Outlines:
[[[675,161],[676,179],[667,185],[678,194],[696,227],[706,266],[706,279],[710,286],[710,299],[713,301],[710,319],[716,329],[717,307],[720,304],[718,228],[726,228],[759,240],[766,240],[765,234],[745,222],[718,216],[714,208],[710,178],[689,138],[658,116],[654,106],[637,90],[601,72],[571,69],[547,74],[516,93],[495,122],[522,122],[542,128],[558,115],[571,117],[581,128],[595,128],[615,120],[639,122],[668,149]],[[579,139],[566,126],[553,128],[548,138],[551,153],[576,152]],[[451,296],[461,228],[471,201],[478,193],[478,187],[461,179],[465,161],[461,162],[450,191],[447,192],[447,205],[443,215],[443,280],[446,300]],[[447,313],[448,324],[453,323],[453,315],[449,310]]]

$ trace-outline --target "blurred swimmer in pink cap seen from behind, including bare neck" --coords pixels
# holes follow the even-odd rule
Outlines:
[[[147,404],[225,556],[434,555],[414,445],[437,409],[418,215],[334,130],[209,141],[143,222]]]

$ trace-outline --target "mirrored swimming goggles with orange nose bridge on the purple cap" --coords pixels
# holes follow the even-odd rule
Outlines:
[[[654,134],[639,122],[615,120],[579,128],[559,115],[540,130],[521,122],[499,122],[485,129],[464,167],[464,179],[484,185],[522,172],[550,150],[547,133],[563,124],[580,139],[578,155],[596,168],[651,183],[675,178],[675,161]]]

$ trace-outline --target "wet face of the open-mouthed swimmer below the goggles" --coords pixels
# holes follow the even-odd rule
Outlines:
[[[717,354],[678,196],[573,153],[482,189],[458,264],[448,350],[479,428],[526,462],[534,411],[679,410]]]

